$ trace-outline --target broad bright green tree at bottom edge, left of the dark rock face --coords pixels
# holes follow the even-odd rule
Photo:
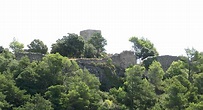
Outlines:
[[[55,109],[95,110],[102,100],[99,85],[99,80],[94,75],[87,70],[78,70],[68,76],[63,85],[49,87],[45,96]]]

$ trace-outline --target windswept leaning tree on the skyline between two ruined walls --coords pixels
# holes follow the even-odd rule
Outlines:
[[[158,52],[154,47],[154,44],[151,43],[148,39],[138,37],[131,37],[129,39],[133,43],[133,48],[136,54],[137,59],[144,60],[149,56],[157,56]]]

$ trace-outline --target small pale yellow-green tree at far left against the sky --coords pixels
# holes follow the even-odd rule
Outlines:
[[[9,47],[13,50],[14,53],[22,52],[24,44],[18,42],[15,38],[13,38],[13,41],[10,43]]]

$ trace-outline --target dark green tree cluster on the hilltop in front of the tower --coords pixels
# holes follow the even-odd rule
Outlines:
[[[77,34],[68,34],[58,39],[52,44],[51,53],[59,53],[69,58],[94,58],[102,57],[105,52],[104,46],[107,45],[106,39],[100,33],[95,33],[89,41]]]

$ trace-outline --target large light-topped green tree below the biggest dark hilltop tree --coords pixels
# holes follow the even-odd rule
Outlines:
[[[39,75],[36,83],[39,93],[43,94],[50,86],[63,84],[65,76],[73,74],[77,69],[77,64],[58,53],[46,55],[35,70]]]

